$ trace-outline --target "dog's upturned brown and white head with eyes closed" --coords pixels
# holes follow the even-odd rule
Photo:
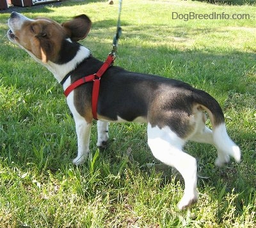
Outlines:
[[[64,40],[83,40],[89,33],[92,22],[86,15],[79,15],[73,20],[58,24],[51,19],[41,17],[32,20],[13,12],[8,25],[8,38],[11,42],[26,50],[36,60],[47,63],[58,59]]]

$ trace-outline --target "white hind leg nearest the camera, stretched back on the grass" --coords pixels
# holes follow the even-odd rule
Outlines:
[[[185,142],[168,126],[152,127],[148,123],[148,146],[153,155],[166,165],[175,167],[184,178],[185,190],[178,205],[179,209],[187,208],[198,199],[196,159],[182,151]]]

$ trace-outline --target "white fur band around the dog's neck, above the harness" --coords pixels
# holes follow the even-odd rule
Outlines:
[[[47,67],[47,69],[54,75],[58,82],[61,82],[69,72],[72,72],[72,70],[74,70],[76,66],[79,65],[79,63],[88,57],[90,57],[90,50],[86,49],[84,46],[80,46],[76,56],[67,63],[60,65],[48,61],[43,65]]]

